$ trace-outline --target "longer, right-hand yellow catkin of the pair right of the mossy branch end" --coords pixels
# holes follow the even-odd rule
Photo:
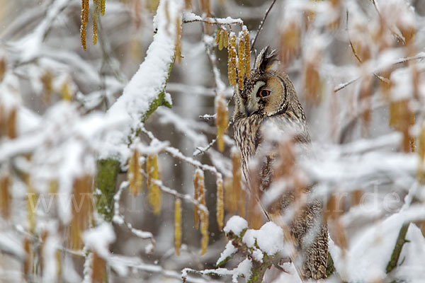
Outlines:
[[[148,156],[146,163],[146,171],[148,175],[147,181],[149,184],[149,192],[147,197],[148,202],[151,205],[152,209],[154,209],[154,214],[159,215],[161,213],[162,195],[161,190],[159,190],[159,186],[153,181],[159,180],[157,154]]]

